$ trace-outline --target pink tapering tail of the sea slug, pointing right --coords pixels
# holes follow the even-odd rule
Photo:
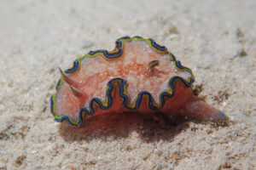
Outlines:
[[[193,96],[184,105],[184,116],[194,117],[203,121],[228,121],[229,117],[224,112],[219,111],[212,105],[208,105],[203,100]]]

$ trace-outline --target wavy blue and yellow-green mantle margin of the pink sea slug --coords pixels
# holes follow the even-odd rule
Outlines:
[[[192,71],[189,68],[181,65],[180,61],[176,60],[175,56],[172,53],[168,52],[167,48],[165,46],[160,46],[159,44],[154,42],[154,40],[151,38],[145,39],[143,37],[121,37],[118,40],[116,40],[115,48],[113,49],[113,51],[110,51],[110,52],[108,52],[105,49],[90,51],[88,54],[85,54],[84,56],[80,57],[79,59],[75,59],[73,61],[73,67],[70,69],[67,69],[65,71],[65,73],[67,75],[71,75],[75,71],[79,71],[81,59],[84,59],[85,57],[93,58],[96,55],[101,55],[104,59],[110,59],[110,60],[118,59],[119,56],[121,56],[123,54],[123,46],[124,46],[123,42],[127,42],[127,41],[129,42],[134,39],[148,42],[148,45],[150,46],[150,48],[154,49],[154,51],[157,51],[157,52],[163,53],[163,54],[169,54],[172,61],[174,61],[176,68],[180,71],[189,71],[189,73],[191,74],[191,77],[189,77],[188,80],[183,79],[183,77],[172,77],[168,83],[170,90],[162,91],[159,94],[159,98],[160,98],[159,105],[157,105],[154,102],[152,94],[150,94],[148,91],[142,91],[139,94],[137,94],[137,97],[134,100],[134,103],[129,105],[128,101],[130,99],[130,95],[126,92],[126,89],[125,89],[126,88],[126,80],[119,78],[119,77],[114,78],[111,81],[109,81],[107,84],[108,87],[107,87],[107,92],[106,92],[106,96],[105,96],[105,102],[103,102],[102,99],[99,99],[99,98],[91,99],[89,107],[83,107],[82,109],[80,109],[79,116],[78,116],[77,120],[75,120],[75,121],[70,116],[57,116],[56,115],[55,99],[56,99],[56,94],[58,94],[58,92],[61,88],[62,82],[63,82],[63,78],[61,77],[61,79],[57,82],[57,84],[55,86],[56,93],[51,95],[51,97],[50,97],[50,110],[51,110],[53,116],[55,116],[55,122],[63,122],[66,120],[70,125],[80,126],[84,122],[85,114],[92,116],[96,111],[96,107],[99,107],[102,110],[110,109],[112,106],[112,102],[113,102],[112,92],[113,92],[114,83],[118,83],[118,85],[119,85],[119,95],[123,99],[123,105],[125,106],[125,108],[127,108],[131,111],[137,110],[139,108],[139,106],[142,102],[143,96],[148,98],[148,108],[150,108],[151,110],[154,110],[154,111],[160,110],[160,108],[162,108],[165,105],[166,99],[172,98],[172,96],[175,94],[174,82],[176,82],[177,80],[180,80],[181,82],[183,82],[187,87],[191,86],[191,84],[195,80],[195,77],[193,76]]]

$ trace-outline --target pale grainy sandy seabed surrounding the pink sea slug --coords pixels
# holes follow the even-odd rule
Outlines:
[[[255,169],[256,2],[0,1],[0,169]],[[138,114],[53,121],[49,96],[90,50],[152,37],[195,74],[224,124]]]

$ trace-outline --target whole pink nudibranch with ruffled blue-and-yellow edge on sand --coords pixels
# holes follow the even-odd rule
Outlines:
[[[153,39],[121,37],[113,51],[90,51],[61,71],[50,108],[56,122],[74,126],[86,116],[127,111],[227,120],[193,94],[194,80],[192,71]]]

